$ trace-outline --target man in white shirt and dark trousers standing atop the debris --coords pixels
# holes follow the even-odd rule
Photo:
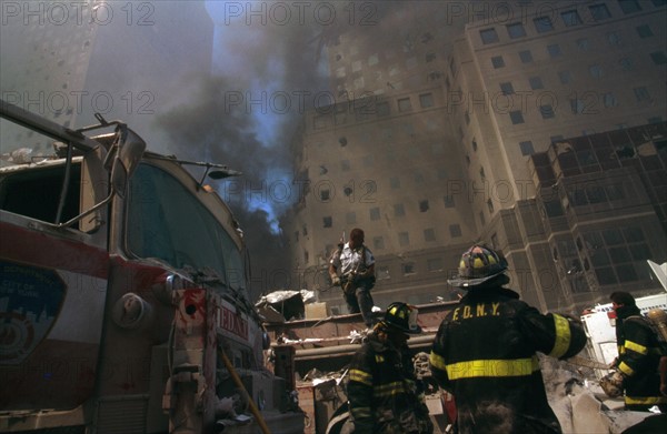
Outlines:
[[[338,272],[340,271],[340,276]],[[370,290],[375,286],[375,258],[364,245],[364,231],[359,228],[350,232],[350,241],[331,255],[329,263],[331,283],[340,285],[350,313],[361,312],[366,326],[375,324],[374,301]]]

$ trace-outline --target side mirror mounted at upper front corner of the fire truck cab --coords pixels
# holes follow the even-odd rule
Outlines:
[[[128,180],[137,170],[141,155],[146,150],[146,142],[129,128],[119,127],[120,140],[118,152],[111,166],[111,188],[120,198],[125,198]]]

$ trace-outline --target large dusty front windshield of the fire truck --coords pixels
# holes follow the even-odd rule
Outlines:
[[[127,246],[176,269],[215,272],[225,284],[245,287],[239,249],[223,225],[191,191],[166,171],[141,164],[130,181]]]

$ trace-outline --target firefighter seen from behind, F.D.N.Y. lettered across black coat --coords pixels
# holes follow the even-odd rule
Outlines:
[[[549,406],[537,352],[566,359],[586,344],[580,323],[541,314],[502,287],[507,261],[485,245],[461,256],[452,286],[467,290],[442,320],[430,353],[438,385],[454,395],[467,433],[561,433]]]

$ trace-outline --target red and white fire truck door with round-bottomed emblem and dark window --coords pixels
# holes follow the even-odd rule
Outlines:
[[[93,393],[108,279],[106,215],[53,225],[76,216],[101,188],[82,158],[66,168],[59,160],[0,169],[4,411],[74,408]]]

